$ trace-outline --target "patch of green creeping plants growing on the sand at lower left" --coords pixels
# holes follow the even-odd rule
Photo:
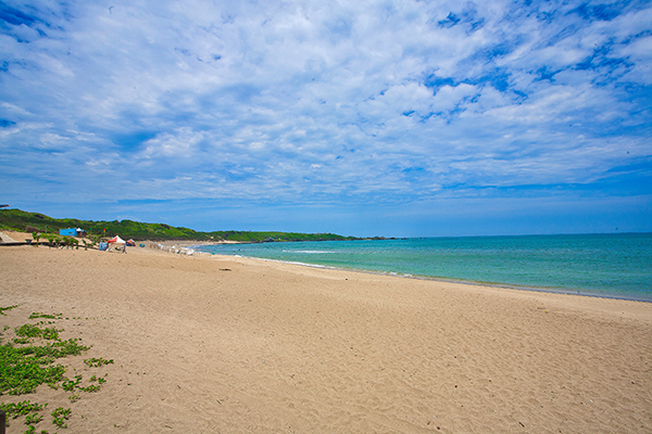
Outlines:
[[[10,310],[16,306],[0,307],[0,314],[5,315],[5,310]],[[47,315],[41,312],[33,312],[29,319],[45,318],[51,320],[62,320],[62,314]],[[53,323],[49,321],[48,323]],[[63,329],[55,327],[39,327],[45,322],[26,323],[13,329],[15,337],[3,342],[7,336],[5,332],[11,328],[4,326],[0,332],[0,395],[24,395],[33,394],[37,387],[42,384],[48,384],[50,387],[58,390],[60,386],[64,392],[72,393],[68,396],[71,403],[80,399],[80,392],[97,393],[101,385],[106,382],[103,378],[92,375],[89,384],[83,385],[83,376],[75,375],[73,379],[64,376],[66,367],[57,363],[58,359],[67,356],[78,356],[90,347],[80,344],[79,339],[62,340],[60,332]],[[113,360],[104,358],[85,359],[84,362],[89,368],[99,368],[103,365],[113,363]],[[105,376],[105,375],[104,375]],[[48,434],[48,431],[37,431],[36,426],[43,420],[43,416],[39,414],[48,406],[45,404],[36,404],[29,400],[21,403],[0,403],[0,410],[4,410],[8,417],[17,419],[24,417],[24,423],[27,425],[25,433]],[[67,421],[71,418],[72,410],[70,408],[59,407],[51,412],[52,424],[57,430],[66,429]]]

